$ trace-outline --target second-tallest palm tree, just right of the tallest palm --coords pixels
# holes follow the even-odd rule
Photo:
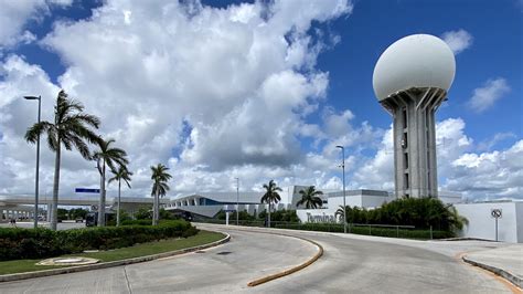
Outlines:
[[[114,139],[104,140],[102,138],[98,139],[98,148],[99,150],[96,151],[93,156],[93,159],[96,160],[96,167],[98,168],[98,172],[100,174],[100,201],[98,208],[98,227],[105,225],[105,167],[108,166],[111,170],[116,169],[115,165],[118,167],[126,166],[129,164],[127,160],[126,151],[120,148],[111,147],[110,145],[114,143]]]

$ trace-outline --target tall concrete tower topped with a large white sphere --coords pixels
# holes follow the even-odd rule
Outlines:
[[[396,196],[437,197],[435,113],[452,84],[450,48],[428,34],[405,36],[380,56],[373,86],[393,116]]]

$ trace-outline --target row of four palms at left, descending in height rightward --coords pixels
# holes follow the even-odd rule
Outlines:
[[[100,175],[100,192],[98,203],[98,225],[105,225],[105,204],[106,204],[106,176],[109,170],[113,181],[118,182],[118,209],[117,225],[120,224],[120,195],[121,182],[124,181],[130,188],[132,172],[128,170],[129,159],[127,153],[118,147],[114,147],[115,140],[104,138],[96,130],[100,126],[100,119],[84,112],[84,105],[78,101],[72,99],[65,93],[60,91],[54,106],[54,120],[42,120],[31,126],[25,133],[25,140],[35,144],[41,136],[46,136],[47,146],[55,154],[54,160],[54,180],[53,180],[53,198],[51,202],[51,230],[56,230],[58,219],[58,191],[60,191],[60,174],[62,164],[62,151],[73,150],[86,160],[96,161],[96,167]],[[95,150],[92,150],[95,146]],[[152,189],[151,196],[153,201],[153,224],[158,224],[159,217],[159,197],[166,196],[169,191],[168,181],[171,175],[168,174],[169,168],[162,164],[151,166]]]

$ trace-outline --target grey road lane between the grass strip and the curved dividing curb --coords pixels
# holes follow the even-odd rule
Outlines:
[[[307,261],[317,246],[299,239],[231,233],[221,246],[152,262],[8,282],[0,293],[239,292],[258,277]]]

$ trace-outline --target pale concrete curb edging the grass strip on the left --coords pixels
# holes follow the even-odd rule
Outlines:
[[[190,252],[194,252],[194,251],[199,251],[199,250],[204,250],[204,249],[217,246],[217,245],[224,244],[224,243],[226,243],[231,240],[231,235],[228,233],[225,233],[225,232],[221,232],[221,233],[225,234],[225,238],[223,238],[218,241],[214,241],[214,242],[204,244],[204,245],[198,245],[198,246],[180,249],[180,250],[175,250],[175,251],[169,251],[169,252],[163,252],[163,253],[158,253],[158,254],[152,254],[152,255],[146,255],[146,256],[139,256],[139,258],[134,258],[134,259],[120,260],[120,261],[109,261],[109,262],[103,262],[103,263],[96,263],[96,264],[89,264],[89,265],[68,266],[68,267],[35,271],[35,272],[3,274],[3,275],[0,275],[0,283],[19,281],[19,280],[26,280],[26,279],[34,279],[34,277],[42,277],[42,276],[50,276],[50,275],[58,275],[58,274],[67,274],[67,273],[77,273],[77,272],[100,270],[100,269],[107,269],[107,267],[114,267],[114,266],[119,266],[119,265],[140,263],[140,262],[146,262],[146,261],[152,261],[152,260],[158,260],[158,259],[164,259],[164,258],[169,258],[169,256],[185,254],[185,253],[190,253]]]

